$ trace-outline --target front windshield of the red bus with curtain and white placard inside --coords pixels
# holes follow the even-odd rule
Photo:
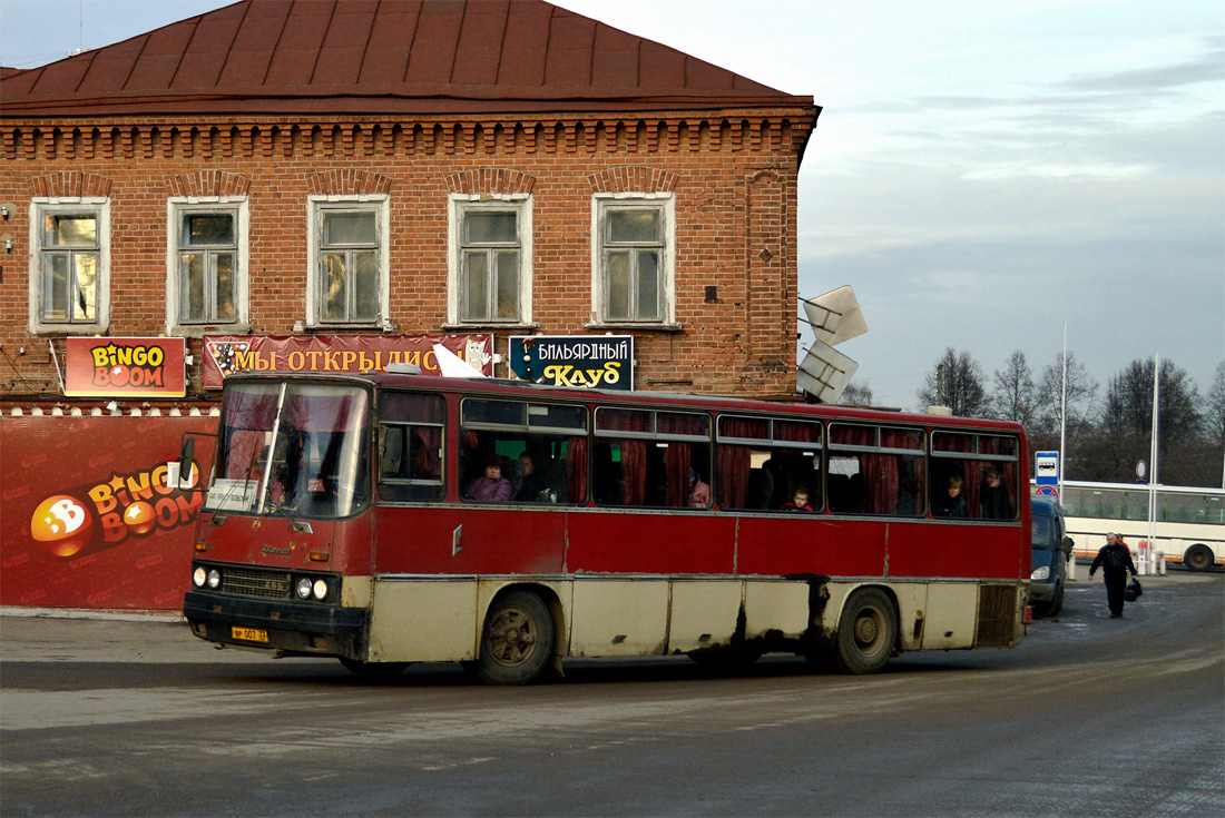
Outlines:
[[[205,508],[348,517],[370,500],[369,398],[325,383],[234,383]]]

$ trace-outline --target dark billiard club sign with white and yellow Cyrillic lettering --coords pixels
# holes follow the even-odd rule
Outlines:
[[[511,336],[511,376],[583,389],[633,389],[633,336]]]

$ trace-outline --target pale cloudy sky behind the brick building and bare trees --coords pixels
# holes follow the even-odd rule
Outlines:
[[[31,67],[227,0],[0,0]],[[1225,360],[1219,0],[559,0],[823,108],[800,170],[800,291],[850,284],[839,349],[916,405],[946,347],[986,375],[1068,348],[1105,388]],[[806,333],[806,337],[807,333]]]

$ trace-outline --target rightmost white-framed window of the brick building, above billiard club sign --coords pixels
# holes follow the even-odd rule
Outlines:
[[[595,313],[601,323],[675,323],[671,195],[597,197]]]

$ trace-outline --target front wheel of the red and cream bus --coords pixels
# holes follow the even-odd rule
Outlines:
[[[477,675],[490,685],[534,682],[552,658],[554,625],[537,594],[501,594],[485,615]]]

